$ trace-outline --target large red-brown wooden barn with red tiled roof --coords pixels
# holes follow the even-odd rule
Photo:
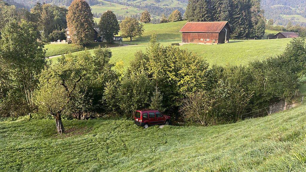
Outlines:
[[[187,22],[180,32],[183,44],[220,44],[229,42],[232,29],[228,21]]]

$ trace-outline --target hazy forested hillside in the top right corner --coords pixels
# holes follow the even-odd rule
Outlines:
[[[273,19],[276,24],[293,24],[306,26],[306,0],[262,0],[265,17]]]

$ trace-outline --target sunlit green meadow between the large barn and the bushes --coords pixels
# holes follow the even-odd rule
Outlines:
[[[210,63],[210,65],[245,65],[255,60],[263,60],[268,57],[275,57],[285,50],[287,43],[292,39],[270,39],[270,40],[240,40],[230,41],[227,44],[219,45],[197,45],[185,44],[180,48],[197,53]],[[175,41],[174,41],[175,42]],[[169,46],[173,42],[161,42],[164,46]],[[113,57],[110,63],[123,61],[125,68],[134,58],[135,52],[146,51],[147,44],[131,45],[123,47],[113,47],[111,51]],[[93,53],[93,50],[88,50]],[[82,51],[73,54],[82,53]],[[57,58],[50,59],[56,62]]]

